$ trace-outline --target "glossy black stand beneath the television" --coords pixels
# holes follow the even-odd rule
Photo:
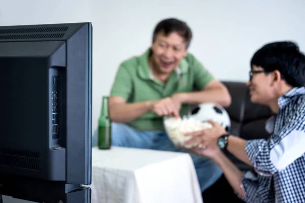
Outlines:
[[[28,177],[15,178],[16,176],[0,176],[1,195],[40,203],[91,202],[91,189],[89,187],[83,187],[79,184],[66,184],[60,181],[43,181]]]

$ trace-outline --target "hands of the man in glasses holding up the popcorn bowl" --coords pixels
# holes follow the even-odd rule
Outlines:
[[[226,130],[218,122],[208,122],[212,124],[212,128],[186,133],[185,136],[191,136],[192,138],[185,142],[184,146],[198,143],[196,147],[187,149],[187,151],[201,156],[214,158],[221,151],[217,145],[217,141],[226,133]]]

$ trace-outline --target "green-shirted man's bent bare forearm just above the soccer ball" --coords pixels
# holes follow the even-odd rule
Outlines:
[[[228,89],[219,81],[213,79],[201,91],[178,93],[183,104],[216,103],[223,107],[231,104],[231,96]]]

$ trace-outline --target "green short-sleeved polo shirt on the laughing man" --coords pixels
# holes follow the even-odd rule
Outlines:
[[[172,72],[166,83],[153,77],[148,67],[150,49],[143,55],[132,57],[120,64],[116,73],[110,96],[123,97],[127,103],[159,100],[178,92],[191,92],[202,89],[212,79],[212,75],[190,53]],[[187,115],[189,105],[184,104],[180,116]],[[128,123],[138,130],[164,130],[163,118],[148,112]]]

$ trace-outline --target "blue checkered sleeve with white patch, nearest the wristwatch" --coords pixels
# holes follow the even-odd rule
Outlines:
[[[279,134],[271,134],[268,140],[250,140],[246,153],[255,171],[261,176],[272,176],[299,158],[305,149],[305,133],[299,120],[284,126]]]

